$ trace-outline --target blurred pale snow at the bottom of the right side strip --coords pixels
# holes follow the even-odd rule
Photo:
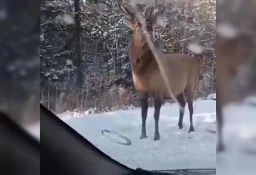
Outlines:
[[[243,104],[233,103],[224,109],[223,136],[226,152],[217,155],[218,175],[255,175],[256,108],[249,105],[254,100],[250,97]]]

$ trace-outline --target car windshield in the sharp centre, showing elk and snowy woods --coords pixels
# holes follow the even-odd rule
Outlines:
[[[40,1],[41,103],[130,168],[215,168],[216,2],[138,2]]]

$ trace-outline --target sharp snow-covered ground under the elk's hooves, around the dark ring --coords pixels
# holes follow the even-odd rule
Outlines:
[[[193,123],[195,132],[188,133],[189,111],[185,107],[183,129],[178,129],[179,108],[177,104],[162,106],[160,112],[160,140],[154,141],[154,108],[149,108],[146,129],[148,138],[140,140],[140,108],[92,114],[84,117],[60,117],[87,140],[108,156],[130,168],[148,170],[179,168],[215,168],[216,135],[215,101],[194,102]],[[118,132],[128,137],[132,144],[121,145],[102,135],[102,130]],[[110,137],[110,135],[108,135]],[[112,135],[112,139],[124,142]]]

